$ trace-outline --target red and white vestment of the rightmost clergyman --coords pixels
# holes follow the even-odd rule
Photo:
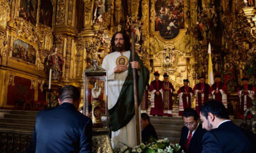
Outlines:
[[[240,103],[237,105],[237,118],[243,119],[244,111],[246,110],[246,108],[250,108],[252,106],[251,101],[253,99],[254,93],[255,87],[253,87],[253,85],[250,84],[242,85],[237,89],[237,94],[240,99]]]

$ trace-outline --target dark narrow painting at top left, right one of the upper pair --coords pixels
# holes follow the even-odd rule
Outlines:
[[[53,5],[51,0],[44,0],[40,3],[39,23],[52,27]]]

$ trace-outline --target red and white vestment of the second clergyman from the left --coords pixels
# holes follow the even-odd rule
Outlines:
[[[165,82],[163,81],[163,89],[164,89],[164,96],[163,96],[163,103],[164,103],[164,115],[166,116],[172,116],[172,96],[175,89],[173,88],[173,85],[171,82]]]

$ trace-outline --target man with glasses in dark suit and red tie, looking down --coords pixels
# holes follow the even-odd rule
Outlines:
[[[184,126],[180,134],[179,145],[181,149],[186,153],[201,152],[202,138],[206,131],[202,129],[196,110],[186,108],[182,114],[182,118],[184,120]]]

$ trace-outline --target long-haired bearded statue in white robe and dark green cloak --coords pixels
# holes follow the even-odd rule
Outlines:
[[[138,101],[143,98],[148,83],[149,71],[140,57],[131,62],[131,44],[125,32],[117,32],[111,39],[111,54],[106,55],[102,68],[108,70],[108,109],[112,147],[124,144],[134,147],[136,143],[136,120],[134,116],[134,89],[132,68],[138,70]],[[124,58],[127,64],[118,64]],[[140,113],[140,111],[139,111]]]

